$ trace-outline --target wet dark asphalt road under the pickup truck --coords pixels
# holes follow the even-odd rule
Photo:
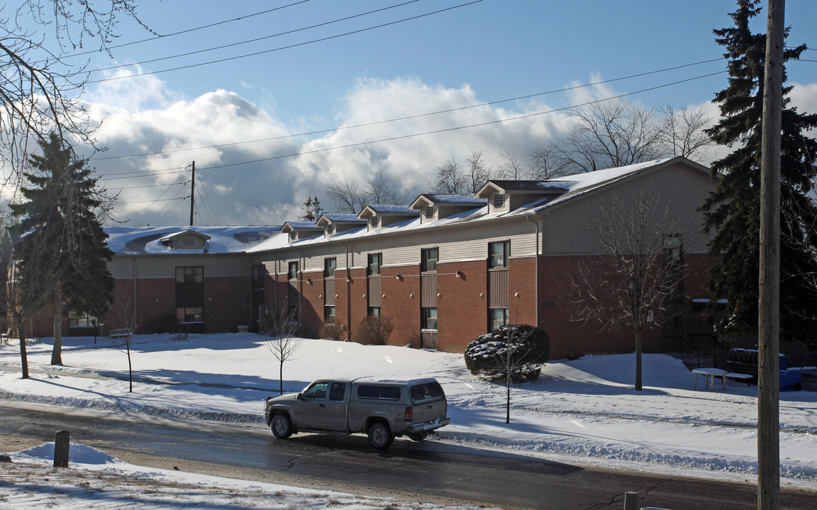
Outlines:
[[[261,403],[259,403],[259,406]],[[623,508],[623,494],[640,507],[673,510],[756,508],[750,485],[675,476],[588,469],[467,446],[398,439],[373,450],[365,436],[304,434],[276,440],[262,424],[214,423],[94,409],[24,405],[0,400],[0,451],[9,446],[71,440],[128,462],[243,480],[318,486],[364,494],[462,499],[504,508]],[[784,491],[781,509],[817,509],[817,494]]]

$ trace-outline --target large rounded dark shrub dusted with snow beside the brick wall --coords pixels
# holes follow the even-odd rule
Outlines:
[[[541,328],[529,324],[507,324],[477,337],[465,350],[471,374],[493,381],[534,381],[551,355],[551,342]]]

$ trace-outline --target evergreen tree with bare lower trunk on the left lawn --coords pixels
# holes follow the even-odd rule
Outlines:
[[[25,202],[10,207],[11,213],[21,218],[20,227],[27,233],[20,240],[24,253],[29,253],[20,263],[24,281],[26,273],[34,267],[42,271],[43,264],[34,259],[50,257],[54,261],[53,266],[49,264],[52,284],[42,292],[47,293],[54,309],[51,365],[61,365],[64,314],[87,313],[99,318],[109,310],[114,297],[114,277],[108,262],[114,253],[107,246],[108,235],[96,215],[103,204],[92,170],[85,161],[74,159],[71,150],[54,133],[40,146],[42,155],[32,156],[31,169],[25,172],[29,186],[20,189]],[[33,243],[47,246],[50,253],[37,254],[25,249],[25,245]]]

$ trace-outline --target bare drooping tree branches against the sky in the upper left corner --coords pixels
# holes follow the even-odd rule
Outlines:
[[[10,180],[20,178],[29,143],[46,140],[49,132],[94,145],[94,127],[79,99],[87,69],[66,56],[90,39],[107,49],[123,17],[141,24],[136,0],[16,4],[0,7],[0,157],[13,169]]]

